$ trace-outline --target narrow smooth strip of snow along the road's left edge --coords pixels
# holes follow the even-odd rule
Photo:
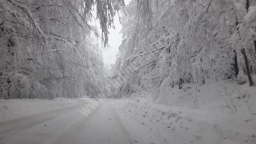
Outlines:
[[[0,122],[28,117],[39,113],[49,112],[83,103],[86,98],[55,98],[54,100],[11,99],[0,100]]]

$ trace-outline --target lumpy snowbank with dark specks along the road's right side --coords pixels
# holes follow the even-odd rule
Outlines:
[[[255,87],[224,81],[157,94],[114,102],[121,118],[135,120],[152,133],[150,143],[256,143]]]

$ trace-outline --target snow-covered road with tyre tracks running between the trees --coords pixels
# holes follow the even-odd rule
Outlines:
[[[126,130],[129,120],[120,120],[112,107],[112,100],[104,100],[86,117],[84,105],[54,110],[19,120],[0,123],[0,143],[74,143],[74,144],[128,144],[150,143],[150,136],[130,135],[143,128]],[[123,125],[124,124],[124,125]],[[130,132],[134,130],[136,132]],[[149,138],[146,138],[149,137]],[[139,139],[140,138],[140,139]]]

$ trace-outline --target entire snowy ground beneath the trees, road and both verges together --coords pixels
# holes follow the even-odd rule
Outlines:
[[[157,94],[140,92],[117,100],[1,100],[7,107],[1,108],[1,117],[14,109],[49,111],[0,123],[0,143],[256,143],[255,87],[225,80],[182,89],[162,87]],[[90,112],[84,115],[92,100],[97,107],[87,107]]]

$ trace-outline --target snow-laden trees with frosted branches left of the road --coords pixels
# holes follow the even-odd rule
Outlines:
[[[124,5],[117,0],[0,2],[0,98],[55,98],[104,93],[101,49],[91,26],[96,7],[107,28]]]

